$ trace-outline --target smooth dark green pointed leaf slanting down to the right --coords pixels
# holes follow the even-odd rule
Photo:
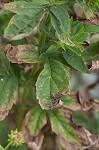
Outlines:
[[[83,73],[89,73],[87,67],[84,64],[84,61],[81,56],[78,56],[74,51],[72,51],[69,48],[66,48],[66,50],[63,52],[63,56],[66,60],[66,62],[71,65],[76,70],[83,72]]]

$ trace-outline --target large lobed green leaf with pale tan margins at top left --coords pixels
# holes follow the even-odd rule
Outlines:
[[[29,36],[36,26],[38,17],[45,10],[42,5],[23,1],[5,4],[4,9],[16,13],[4,32],[5,38],[10,40],[18,40]]]

